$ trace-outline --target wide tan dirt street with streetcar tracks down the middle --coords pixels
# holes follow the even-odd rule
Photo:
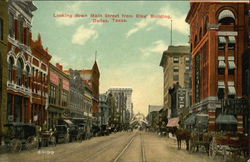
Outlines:
[[[156,133],[134,130],[109,136],[94,137],[87,141],[58,144],[39,150],[1,154],[2,162],[219,162],[220,156],[209,159],[204,151],[189,153],[182,143],[177,150],[174,138],[160,137]]]

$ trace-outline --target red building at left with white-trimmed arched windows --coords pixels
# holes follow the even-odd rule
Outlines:
[[[1,124],[40,120],[40,118],[34,118],[34,111],[31,108],[31,103],[35,100],[33,92],[37,89],[34,82],[37,76],[35,74],[38,73],[35,73],[34,69],[43,72],[45,76],[47,76],[47,71],[41,69],[41,61],[33,56],[31,50],[31,19],[32,12],[36,9],[32,1],[8,1],[9,31],[7,32],[8,49],[6,52],[8,80],[7,106],[5,107],[7,120]],[[39,67],[36,67],[36,64]],[[45,107],[41,109],[44,110]],[[5,113],[2,115],[5,116]],[[42,120],[40,121],[38,124],[43,123]]]

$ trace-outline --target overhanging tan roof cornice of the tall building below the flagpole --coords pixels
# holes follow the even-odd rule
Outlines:
[[[168,49],[163,52],[161,57],[160,66],[164,66],[167,55],[188,55],[190,54],[190,46],[168,46]]]

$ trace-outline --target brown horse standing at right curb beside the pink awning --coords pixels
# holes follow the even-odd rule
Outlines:
[[[182,140],[186,141],[186,146],[187,146],[186,149],[189,150],[189,140],[191,138],[191,133],[187,130],[184,130],[184,129],[176,129],[175,136],[177,139],[178,150],[181,149],[181,141]]]

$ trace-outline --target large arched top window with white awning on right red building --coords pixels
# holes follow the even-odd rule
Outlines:
[[[229,25],[235,23],[235,16],[230,10],[223,10],[220,12],[218,22],[222,25]]]

